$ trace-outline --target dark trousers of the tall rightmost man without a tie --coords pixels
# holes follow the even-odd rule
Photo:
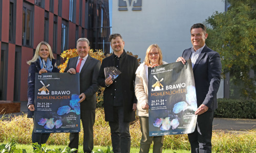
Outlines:
[[[208,110],[197,116],[197,125],[193,133],[187,134],[191,152],[211,152],[211,134],[214,111]]]

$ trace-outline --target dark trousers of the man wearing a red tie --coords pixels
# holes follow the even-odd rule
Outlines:
[[[83,127],[83,152],[93,150],[93,125],[95,122],[95,110],[81,110],[81,120]],[[79,133],[70,133],[69,147],[77,148],[79,143]]]

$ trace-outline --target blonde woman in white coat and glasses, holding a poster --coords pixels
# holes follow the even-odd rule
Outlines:
[[[138,99],[137,102],[137,115],[140,119],[140,129],[142,133],[142,137],[140,140],[140,152],[148,152],[150,151],[150,145],[152,141],[153,144],[153,153],[162,152],[163,148],[163,139],[164,136],[149,136],[148,130],[148,91],[147,91],[147,74],[148,67],[159,66],[162,64],[167,64],[162,61],[163,56],[161,49],[157,44],[150,45],[146,50],[145,61],[140,64],[136,71],[136,79],[135,79],[135,95]]]

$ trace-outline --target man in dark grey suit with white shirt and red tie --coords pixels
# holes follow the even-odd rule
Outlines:
[[[80,101],[81,120],[83,126],[83,151],[93,150],[93,124],[95,122],[96,92],[99,89],[97,83],[100,69],[100,61],[92,58],[88,52],[90,42],[87,38],[79,38],[76,42],[78,57],[69,59],[64,72],[80,73]],[[70,133],[70,148],[78,149],[79,133]]]

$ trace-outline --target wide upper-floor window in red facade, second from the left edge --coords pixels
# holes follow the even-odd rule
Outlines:
[[[32,6],[23,4],[22,44],[32,46]]]

